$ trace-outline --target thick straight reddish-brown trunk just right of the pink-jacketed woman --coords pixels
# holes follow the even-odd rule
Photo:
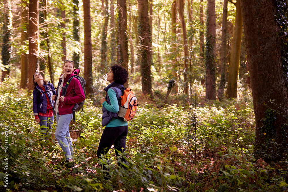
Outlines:
[[[93,73],[92,73],[92,40],[91,40],[91,16],[90,0],[83,0],[84,12],[84,79],[86,80],[86,96],[93,97]]]

